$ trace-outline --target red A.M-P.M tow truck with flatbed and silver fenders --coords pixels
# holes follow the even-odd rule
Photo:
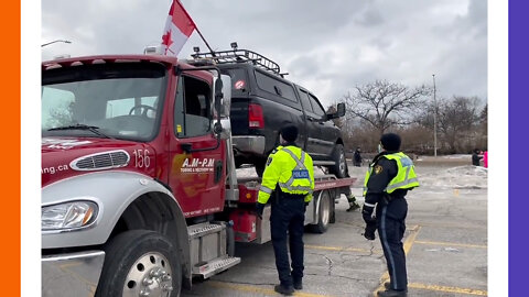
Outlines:
[[[160,55],[42,64],[42,296],[180,296],[238,264],[236,241],[270,240],[260,180],[235,168],[230,90],[215,65]],[[325,232],[354,182],[317,176],[305,223]]]

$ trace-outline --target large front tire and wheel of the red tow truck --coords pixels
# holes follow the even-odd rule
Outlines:
[[[126,231],[111,239],[105,252],[96,297],[180,296],[179,252],[162,234],[148,230]]]

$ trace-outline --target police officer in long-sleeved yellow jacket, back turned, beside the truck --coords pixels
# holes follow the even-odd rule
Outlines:
[[[269,200],[271,202],[270,231],[280,280],[274,290],[283,295],[292,295],[294,289],[303,288],[305,208],[312,200],[314,190],[312,157],[298,147],[296,139],[298,128],[294,125],[281,129],[282,145],[268,157],[257,202],[257,212],[260,217],[264,205]],[[292,270],[289,264],[287,238]]]

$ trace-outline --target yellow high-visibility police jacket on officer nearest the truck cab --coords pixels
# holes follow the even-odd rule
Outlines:
[[[266,204],[279,185],[282,191],[306,195],[305,202],[312,200],[314,191],[314,165],[312,157],[296,146],[278,146],[270,154],[267,167],[262,173],[258,201]]]

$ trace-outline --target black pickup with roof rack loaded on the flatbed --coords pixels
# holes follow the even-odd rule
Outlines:
[[[315,166],[325,166],[331,174],[346,177],[344,141],[332,119],[343,117],[344,103],[337,112],[326,113],[307,89],[287,79],[274,62],[248,50],[198,53],[190,64],[215,64],[231,77],[231,134],[237,167],[252,164],[261,175],[268,155],[279,145],[279,130],[287,123],[299,128],[296,143],[307,152]]]

